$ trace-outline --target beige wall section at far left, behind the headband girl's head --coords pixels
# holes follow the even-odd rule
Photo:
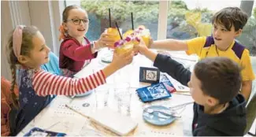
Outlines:
[[[22,8],[19,8],[22,7]],[[1,76],[11,79],[9,64],[6,57],[6,42],[10,31],[17,24],[30,25],[31,20],[27,1],[1,1]]]

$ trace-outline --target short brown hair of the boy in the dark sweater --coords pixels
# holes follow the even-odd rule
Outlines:
[[[241,68],[228,57],[206,57],[198,61],[194,71],[203,94],[216,98],[220,104],[230,102],[239,93]]]

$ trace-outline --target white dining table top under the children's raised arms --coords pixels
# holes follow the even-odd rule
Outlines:
[[[74,79],[89,76],[109,65],[108,62],[103,61],[106,57],[106,50],[99,51],[98,57],[92,59],[91,63],[77,72]],[[172,54],[169,55],[172,56]],[[173,58],[184,65],[195,64],[195,61],[182,62],[183,59],[180,55],[179,57],[173,55]],[[117,134],[113,131],[84,117],[103,108],[130,117],[137,123],[137,127],[128,134],[129,136],[191,136],[194,100],[189,94],[188,87],[184,87],[171,76],[163,73],[176,87],[176,92],[173,92],[170,98],[154,102],[142,102],[140,100],[136,89],[150,86],[150,83],[139,82],[139,68],[154,68],[153,64],[154,62],[147,57],[138,54],[133,57],[131,64],[114,72],[113,75],[106,78],[105,84],[88,91],[87,94],[57,95],[17,136],[25,135],[32,128],[63,132],[69,136],[115,136]],[[179,90],[178,87],[182,88]],[[180,117],[167,125],[150,124],[143,119],[143,110],[149,106],[178,108],[176,113]]]

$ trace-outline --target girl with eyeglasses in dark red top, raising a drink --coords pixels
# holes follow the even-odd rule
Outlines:
[[[91,59],[97,57],[102,47],[113,46],[113,39],[109,34],[102,33],[99,39],[90,42],[84,35],[87,33],[90,20],[87,12],[80,6],[68,6],[62,13],[60,27],[62,39],[59,66],[64,76],[73,77],[85,67]]]

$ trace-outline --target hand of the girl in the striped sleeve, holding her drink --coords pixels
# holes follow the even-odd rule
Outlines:
[[[117,54],[114,51],[112,64],[115,65],[118,69],[123,68],[125,65],[128,65],[132,62],[134,56],[133,50],[128,50],[124,54]]]

